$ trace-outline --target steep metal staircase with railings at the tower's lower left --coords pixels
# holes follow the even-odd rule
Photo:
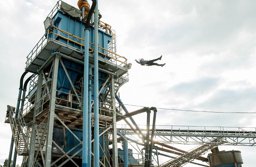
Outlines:
[[[25,121],[20,111],[18,114],[15,114],[15,107],[8,105],[5,123],[9,123],[11,126],[12,137],[14,138],[17,154],[18,155],[27,154],[29,150],[29,134],[30,133],[27,131]]]

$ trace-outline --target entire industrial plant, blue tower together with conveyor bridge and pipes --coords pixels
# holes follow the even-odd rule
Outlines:
[[[154,155],[157,159],[163,155],[171,160],[158,166],[176,167],[197,164],[192,162],[195,159],[210,162],[201,155],[220,144],[255,144],[255,130],[162,130],[155,125],[156,107],[129,112],[117,92],[128,81],[131,63],[116,53],[115,31],[100,20],[98,0],[92,2],[90,7],[86,0],[79,0],[77,9],[58,1],[46,17],[46,31],[27,56],[17,106],[7,106],[5,122],[12,130],[8,167],[14,145],[14,166],[17,155],[22,155],[22,167],[151,167]],[[23,83],[27,73],[32,75]],[[142,112],[147,113],[145,129],[132,118]],[[128,127],[117,128],[120,120]],[[156,136],[170,139],[154,141]],[[189,139],[201,146],[186,152],[168,145],[187,144]],[[143,146],[138,157],[128,149],[128,141]],[[118,142],[123,149],[117,148]],[[236,152],[234,157],[234,163],[241,165],[241,154]]]

